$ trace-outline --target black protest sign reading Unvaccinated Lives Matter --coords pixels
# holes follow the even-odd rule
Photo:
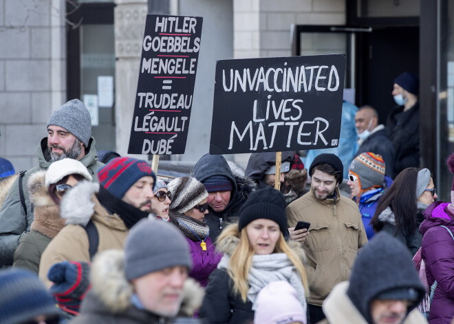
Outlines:
[[[337,147],[345,55],[218,61],[210,154]]]

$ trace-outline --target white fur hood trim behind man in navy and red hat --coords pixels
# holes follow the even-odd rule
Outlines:
[[[94,194],[98,191],[98,183],[84,180],[66,193],[61,199],[60,214],[67,225],[87,225],[95,210]]]

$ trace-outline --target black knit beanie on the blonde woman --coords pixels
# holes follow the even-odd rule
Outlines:
[[[251,193],[239,210],[238,228],[241,231],[255,219],[270,219],[276,222],[283,235],[287,233],[287,217],[285,216],[285,199],[280,191],[266,186]]]

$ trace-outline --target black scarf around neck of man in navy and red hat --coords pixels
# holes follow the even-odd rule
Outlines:
[[[140,219],[148,217],[149,215],[148,213],[123,202],[121,199],[118,199],[102,186],[99,186],[99,192],[96,193],[96,197],[98,197],[99,202],[109,210],[109,212],[116,213],[129,229],[139,222]]]

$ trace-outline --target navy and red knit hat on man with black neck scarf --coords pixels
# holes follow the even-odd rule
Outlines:
[[[147,161],[126,157],[114,158],[98,171],[99,184],[118,199],[145,176],[153,177],[156,182],[156,175]]]

